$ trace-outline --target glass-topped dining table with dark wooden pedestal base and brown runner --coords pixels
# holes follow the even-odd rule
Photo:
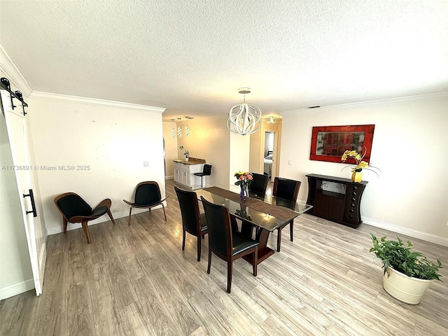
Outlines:
[[[260,197],[254,193],[249,193],[249,197],[244,201],[239,197],[239,193],[219,187],[204,188],[195,192],[198,200],[201,200],[202,196],[209,202],[228,207],[235,230],[238,229],[235,219],[241,220],[240,230],[247,237],[253,237],[255,229],[255,240],[259,243],[258,264],[275,252],[267,247],[269,233],[312,208],[308,204],[299,204],[272,195]],[[253,262],[252,255],[246,255],[243,258]]]

